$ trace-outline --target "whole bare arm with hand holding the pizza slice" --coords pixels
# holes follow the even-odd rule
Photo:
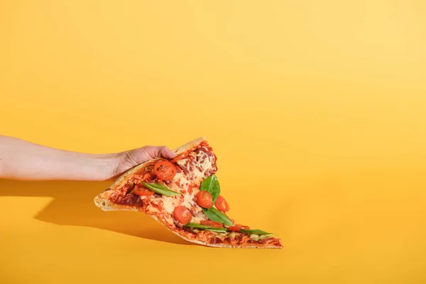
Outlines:
[[[87,154],[0,136],[0,178],[11,180],[114,180],[152,158],[175,158],[165,146],[109,154]]]

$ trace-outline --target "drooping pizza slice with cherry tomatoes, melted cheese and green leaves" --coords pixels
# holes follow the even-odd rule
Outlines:
[[[141,211],[187,241],[205,246],[280,249],[266,231],[236,224],[226,212],[215,173],[217,157],[202,137],[121,175],[94,203],[104,211]]]

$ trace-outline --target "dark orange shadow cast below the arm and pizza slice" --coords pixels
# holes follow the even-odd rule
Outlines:
[[[67,226],[89,226],[173,244],[191,244],[146,214],[132,211],[104,212],[93,199],[111,182],[43,181],[0,179],[1,196],[53,197],[34,219]]]

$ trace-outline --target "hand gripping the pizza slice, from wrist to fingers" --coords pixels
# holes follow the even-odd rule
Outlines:
[[[169,150],[165,146],[145,146],[130,151],[121,152],[118,154],[116,167],[114,168],[114,177],[121,175],[122,173],[130,170],[136,165],[145,163],[147,160],[151,160],[156,157],[173,159],[176,154]]]

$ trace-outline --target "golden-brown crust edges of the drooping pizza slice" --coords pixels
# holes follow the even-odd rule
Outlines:
[[[174,153],[176,153],[177,155],[180,155],[181,153],[185,153],[186,151],[188,151],[188,150],[194,148],[195,146],[199,145],[203,141],[207,141],[207,139],[205,137],[200,137],[200,138],[197,138],[197,139],[195,139],[193,141],[190,141],[190,142],[186,143],[183,146],[175,148],[172,151]],[[97,207],[100,207],[104,211],[114,211],[114,210],[139,211],[137,208],[131,207],[129,205],[113,204],[113,203],[109,202],[109,200],[108,200],[109,199],[109,195],[111,195],[111,193],[112,193],[111,189],[113,189],[114,187],[119,186],[122,182],[125,182],[125,179],[126,179],[126,177],[128,175],[131,175],[131,174],[135,173],[139,169],[143,168],[146,164],[151,163],[151,162],[153,162],[154,160],[157,160],[157,159],[158,158],[154,158],[154,159],[146,161],[145,163],[141,163],[140,165],[137,165],[135,168],[132,168],[131,170],[129,170],[126,173],[124,173],[123,175],[121,175],[116,180],[116,182],[114,182],[106,191],[104,191],[101,194],[99,194],[96,197],[94,197],[94,204],[96,204]],[[159,222],[160,224],[162,224],[163,226],[165,226],[165,228],[167,228],[173,234],[177,234],[182,239],[185,239],[185,241],[189,241],[191,243],[200,244],[200,245],[203,245],[203,246],[213,246],[213,247],[218,247],[218,248],[280,249],[279,246],[231,246],[231,245],[227,245],[227,244],[209,244],[209,243],[207,243],[205,241],[200,241],[200,240],[197,240],[197,239],[188,239],[186,236],[180,234],[179,232],[173,231],[172,229],[170,229],[168,226],[166,226],[162,222],[161,219],[159,219],[155,215],[149,215],[149,216],[151,216],[157,222]]]

